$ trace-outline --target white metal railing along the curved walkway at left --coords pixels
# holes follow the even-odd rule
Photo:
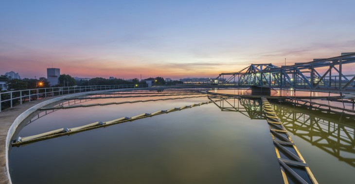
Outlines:
[[[55,87],[55,88],[38,88],[20,91],[0,92],[0,112],[1,109],[11,108],[24,102],[31,102],[47,97],[53,97],[63,94],[77,92],[91,92],[101,90],[129,89],[129,88],[145,88],[147,84],[140,85],[102,85],[102,86],[72,86],[72,87]]]

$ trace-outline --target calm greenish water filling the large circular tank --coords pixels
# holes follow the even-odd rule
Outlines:
[[[152,98],[169,97],[98,99],[83,104]],[[198,97],[61,109],[30,123],[19,136],[208,100],[207,97]],[[260,107],[259,101],[231,99],[14,147],[10,152],[11,177],[14,184],[282,183],[272,138]],[[304,138],[303,134],[321,138],[327,138],[329,134],[323,135],[320,131],[307,133],[306,129],[302,132],[292,130],[298,120],[307,122],[318,118],[321,122],[323,114],[318,117],[314,115],[317,111],[298,107],[295,110],[286,104],[274,104],[274,107],[279,117],[291,122],[285,127],[319,183],[346,184],[354,181],[355,176],[351,173],[355,173],[355,166],[322,149],[327,144],[333,150],[350,148],[345,156],[355,158],[353,120],[318,123],[321,127],[341,124],[350,135],[346,139],[344,135],[348,134],[340,132],[342,139],[339,144],[325,142],[325,146],[320,147]],[[329,131],[331,129],[324,130],[326,133]],[[341,145],[340,142],[347,142],[348,145]],[[339,151],[339,155],[344,156],[344,153]]]

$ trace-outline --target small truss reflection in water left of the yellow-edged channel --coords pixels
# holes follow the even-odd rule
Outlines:
[[[223,97],[209,97],[209,99]],[[252,120],[264,120],[265,115],[262,109],[261,100],[248,98],[231,98],[214,103],[222,111],[235,111],[249,117]]]

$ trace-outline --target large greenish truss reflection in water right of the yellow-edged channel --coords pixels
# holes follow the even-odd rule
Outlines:
[[[281,105],[274,105],[274,109],[287,131],[355,167],[355,125],[341,121],[348,115],[330,116]]]

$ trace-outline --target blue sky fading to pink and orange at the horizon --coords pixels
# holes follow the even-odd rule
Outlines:
[[[217,77],[355,52],[355,0],[0,0],[0,74]]]

